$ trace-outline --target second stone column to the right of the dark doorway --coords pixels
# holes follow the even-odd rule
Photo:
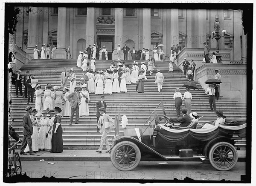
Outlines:
[[[151,11],[143,9],[143,47],[150,49],[151,46]]]

